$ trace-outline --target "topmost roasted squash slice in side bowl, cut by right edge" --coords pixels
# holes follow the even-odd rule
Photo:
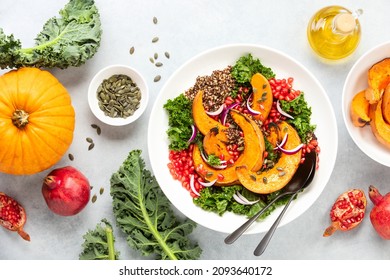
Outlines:
[[[368,70],[368,88],[366,89],[366,99],[370,104],[377,103],[390,83],[390,57],[385,58]]]

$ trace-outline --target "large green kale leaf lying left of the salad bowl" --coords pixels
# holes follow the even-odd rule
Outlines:
[[[188,237],[196,224],[178,221],[140,150],[129,153],[110,182],[114,216],[131,248],[163,260],[200,257],[202,250]]]

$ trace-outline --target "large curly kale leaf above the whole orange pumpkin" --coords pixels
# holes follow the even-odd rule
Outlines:
[[[100,46],[100,15],[93,0],[70,0],[49,19],[35,39],[35,46],[22,48],[19,40],[0,29],[0,68],[80,66]]]

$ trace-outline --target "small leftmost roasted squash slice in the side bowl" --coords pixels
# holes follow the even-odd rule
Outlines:
[[[355,94],[350,106],[350,116],[354,126],[362,127],[371,120],[369,116],[370,103],[365,97],[365,91],[362,90]]]

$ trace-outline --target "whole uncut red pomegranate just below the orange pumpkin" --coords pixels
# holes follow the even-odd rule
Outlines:
[[[42,194],[51,211],[61,216],[72,216],[88,204],[91,187],[80,171],[66,166],[54,169],[45,177]]]

